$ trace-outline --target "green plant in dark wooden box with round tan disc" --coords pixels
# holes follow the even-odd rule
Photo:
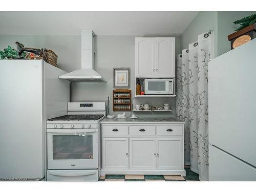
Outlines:
[[[235,49],[251,39],[256,37],[256,14],[244,17],[242,19],[236,20],[233,24],[240,25],[240,27],[235,30],[230,35],[228,35],[228,40],[231,42],[231,50]]]

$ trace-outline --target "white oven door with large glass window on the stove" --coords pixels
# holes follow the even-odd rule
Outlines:
[[[98,129],[48,129],[48,169],[98,168]]]

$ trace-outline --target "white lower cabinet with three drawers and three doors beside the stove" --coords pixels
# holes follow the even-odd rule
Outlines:
[[[185,176],[183,124],[103,124],[102,133],[102,175]]]

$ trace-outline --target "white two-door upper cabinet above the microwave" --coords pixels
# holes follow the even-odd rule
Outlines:
[[[175,77],[175,37],[136,37],[135,76]]]

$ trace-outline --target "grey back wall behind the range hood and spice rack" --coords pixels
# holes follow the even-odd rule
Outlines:
[[[176,37],[176,55],[180,53],[180,36]],[[8,45],[15,47],[15,41],[22,42],[27,47],[52,49],[58,55],[59,68],[71,72],[80,68],[80,36],[37,36],[37,35],[0,35],[0,50]],[[135,90],[135,36],[96,36],[96,70],[108,82],[106,83],[72,83],[71,102],[76,101],[105,101],[106,95],[113,91],[113,68],[131,68],[131,90]],[[135,99],[134,103],[153,103],[161,105],[165,102],[172,104],[173,112],[136,112],[138,116],[176,117],[175,98]],[[110,114],[113,112],[110,105]],[[130,113],[127,113],[129,115]]]

